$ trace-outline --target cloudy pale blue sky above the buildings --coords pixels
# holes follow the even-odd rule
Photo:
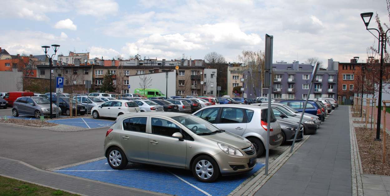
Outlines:
[[[204,59],[216,52],[239,63],[243,51],[264,51],[268,34],[273,63],[365,62],[378,40],[365,29],[364,12],[389,24],[386,0],[0,0],[0,47],[41,55],[41,46],[58,44],[57,54],[103,59]],[[374,17],[369,28],[377,28]]]

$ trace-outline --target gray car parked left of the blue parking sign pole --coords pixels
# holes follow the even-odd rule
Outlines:
[[[51,103],[50,100],[40,96],[31,96],[31,97],[19,97],[14,101],[14,106],[12,107],[12,115],[18,117],[19,115],[32,115],[35,118],[41,118],[43,116],[50,117],[50,105],[52,109],[52,116],[61,115],[61,108],[57,108],[54,103]]]

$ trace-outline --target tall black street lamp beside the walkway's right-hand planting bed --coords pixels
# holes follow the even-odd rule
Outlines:
[[[386,32],[383,32],[382,28],[381,28],[381,31],[379,31],[378,29],[375,29],[375,28],[368,28],[368,25],[371,21],[372,15],[374,15],[373,12],[367,12],[367,13],[360,14],[360,17],[362,17],[362,19],[363,19],[364,25],[366,26],[366,30],[368,30],[372,35],[374,35],[374,34],[370,30],[376,30],[379,34],[379,37],[376,37],[376,35],[374,35],[374,37],[379,40],[378,51],[379,51],[379,47],[381,48],[381,66],[379,68],[379,70],[380,70],[380,72],[379,72],[379,92],[378,92],[379,96],[378,96],[378,115],[377,115],[378,122],[376,124],[376,138],[375,138],[375,140],[381,141],[381,139],[379,138],[379,135],[380,135],[380,128],[381,128],[381,107],[382,107],[383,48],[384,47],[386,48],[387,32],[390,29],[386,30]],[[366,22],[366,19],[368,19],[368,22]]]

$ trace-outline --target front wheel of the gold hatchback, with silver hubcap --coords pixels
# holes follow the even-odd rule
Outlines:
[[[213,182],[220,176],[217,162],[210,156],[199,156],[192,163],[192,173],[201,182]]]

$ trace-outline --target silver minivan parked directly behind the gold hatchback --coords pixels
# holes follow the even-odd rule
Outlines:
[[[265,152],[268,107],[238,104],[211,105],[201,108],[193,115],[205,119],[220,129],[247,138],[254,145],[258,157]],[[274,149],[280,146],[283,137],[280,124],[276,121],[273,112],[270,118],[269,149]]]

